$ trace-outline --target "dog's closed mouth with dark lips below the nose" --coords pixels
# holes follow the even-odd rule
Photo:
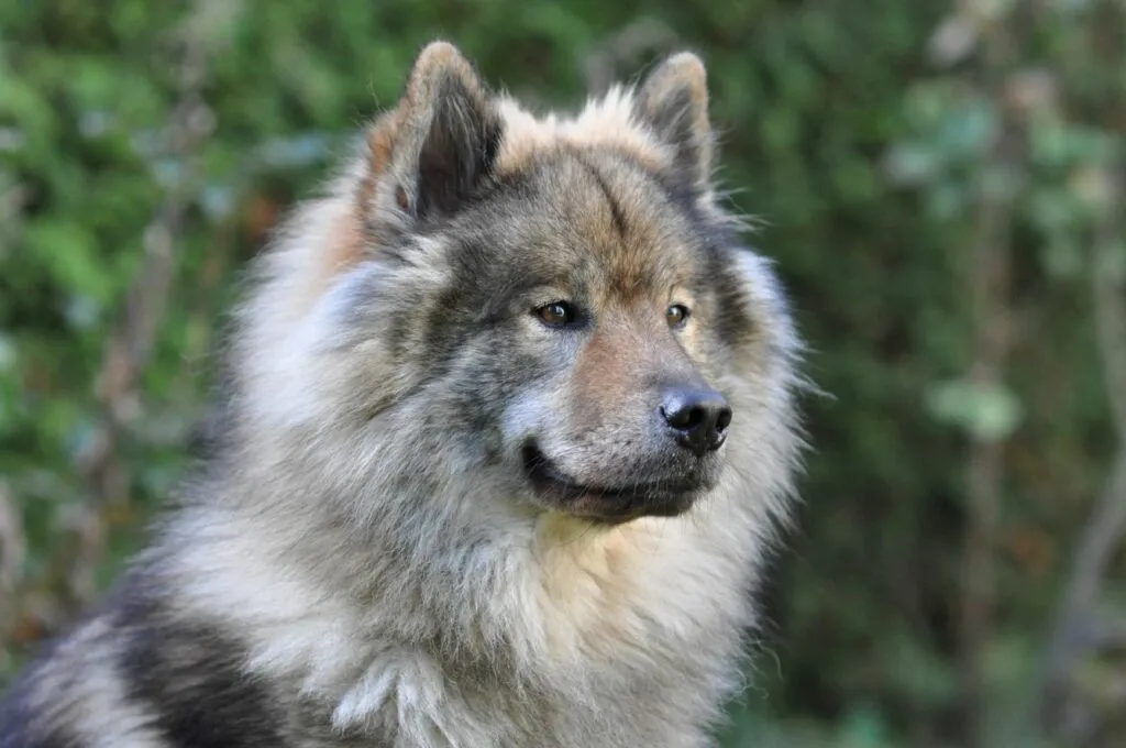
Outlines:
[[[704,481],[691,478],[589,486],[575,481],[537,447],[521,452],[524,471],[544,504],[599,523],[620,524],[638,517],[676,517],[687,511],[704,490]]]

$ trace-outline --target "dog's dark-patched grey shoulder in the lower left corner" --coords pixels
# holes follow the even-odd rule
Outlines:
[[[277,700],[220,621],[179,609],[145,573],[47,643],[0,702],[2,748],[266,748]]]

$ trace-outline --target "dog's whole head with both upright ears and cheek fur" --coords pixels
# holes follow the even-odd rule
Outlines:
[[[346,366],[296,381],[361,429],[410,429],[420,458],[495,469],[535,506],[611,523],[687,510],[733,438],[769,426],[793,342],[712,158],[690,53],[542,119],[431,44],[346,199],[291,229],[295,257],[320,246],[286,303],[310,300],[298,329]],[[275,327],[283,347],[303,339]],[[293,412],[320,412],[305,390]]]

